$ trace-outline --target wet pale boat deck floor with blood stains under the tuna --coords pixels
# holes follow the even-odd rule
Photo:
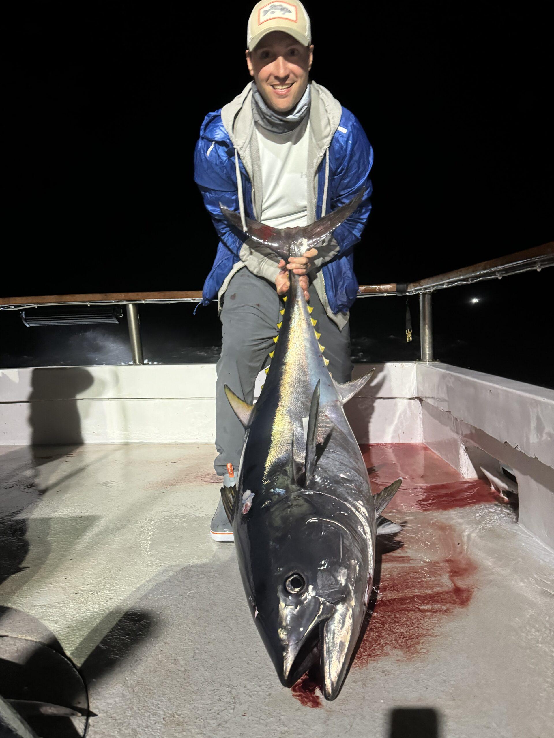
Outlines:
[[[387,511],[403,531],[335,702],[310,677],[278,682],[234,547],[208,534],[209,444],[0,447],[0,658],[21,673],[46,648],[69,658],[92,738],[544,738],[554,555],[422,444],[363,451],[374,492],[403,476]],[[72,721],[41,734],[82,736]]]

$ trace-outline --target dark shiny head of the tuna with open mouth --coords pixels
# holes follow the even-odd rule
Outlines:
[[[363,526],[340,500],[306,490],[276,490],[249,515],[243,579],[278,677],[292,686],[319,663],[333,700],[366,611],[372,570]]]

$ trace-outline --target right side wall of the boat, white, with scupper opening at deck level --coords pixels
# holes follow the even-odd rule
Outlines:
[[[554,391],[446,364],[417,365],[425,444],[465,477],[490,459],[519,487],[519,523],[554,548]]]

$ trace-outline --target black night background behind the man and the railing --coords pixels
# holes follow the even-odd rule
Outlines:
[[[415,280],[553,239],[543,6],[305,5],[312,78],[357,115],[375,149],[360,283]],[[250,3],[25,8],[10,63],[14,165],[0,294],[201,289],[216,235],[192,155],[205,114],[250,78]],[[437,358],[552,387],[553,277],[545,269],[437,293]],[[417,298],[409,302],[417,328]],[[405,298],[358,300],[353,354],[416,358],[405,312]],[[195,317],[191,306],[140,315],[152,361],[215,358],[215,306]],[[129,360],[124,324],[103,327],[103,343],[95,326],[25,328],[2,311],[0,330],[0,366]],[[187,359],[185,345],[199,358]]]

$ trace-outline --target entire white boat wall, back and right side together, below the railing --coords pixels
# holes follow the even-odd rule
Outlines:
[[[213,442],[215,382],[213,364],[0,370],[0,444]],[[554,548],[553,390],[390,362],[347,414],[360,443],[424,441],[465,477],[482,476],[488,457],[507,464],[521,524]]]

